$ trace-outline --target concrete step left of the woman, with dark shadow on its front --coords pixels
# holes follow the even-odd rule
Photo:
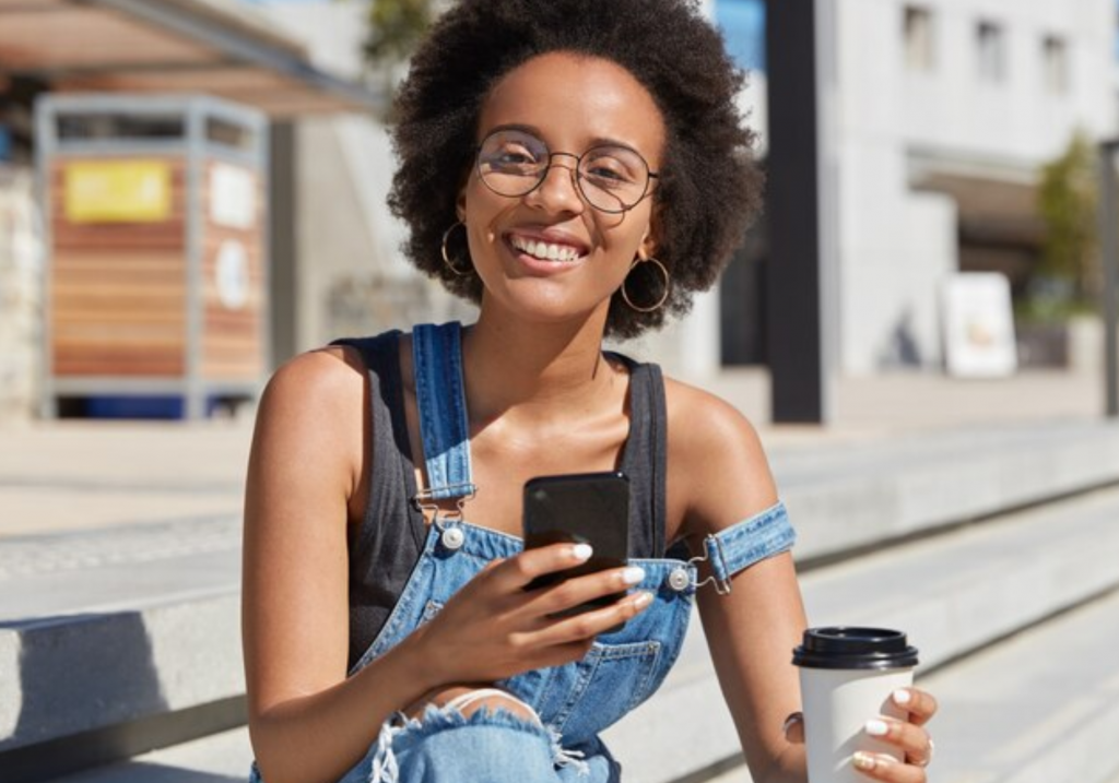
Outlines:
[[[0,777],[243,720],[239,575],[231,516],[0,541]]]

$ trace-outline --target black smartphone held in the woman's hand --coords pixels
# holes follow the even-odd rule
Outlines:
[[[590,544],[594,549],[586,563],[539,576],[525,589],[626,565],[629,557],[629,479],[621,471],[529,479],[525,483],[524,503],[526,549],[568,541]],[[603,595],[563,615],[609,606],[624,595],[624,591]]]

